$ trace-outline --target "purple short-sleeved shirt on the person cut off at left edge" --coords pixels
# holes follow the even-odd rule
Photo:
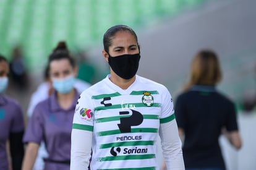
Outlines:
[[[0,95],[0,169],[8,169],[6,141],[11,133],[23,132],[24,122],[20,105]]]

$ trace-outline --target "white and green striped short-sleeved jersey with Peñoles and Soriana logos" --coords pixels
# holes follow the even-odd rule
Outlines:
[[[75,109],[73,129],[93,133],[91,169],[159,169],[158,130],[175,119],[169,91],[139,75],[122,90],[109,76],[83,91]]]

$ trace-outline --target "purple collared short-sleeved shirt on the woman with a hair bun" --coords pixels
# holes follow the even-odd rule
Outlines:
[[[69,109],[62,109],[56,99],[56,92],[38,103],[33,111],[23,137],[23,142],[45,142],[49,153],[47,159],[69,161],[71,148],[71,130],[74,110],[79,93],[75,93],[74,102]]]

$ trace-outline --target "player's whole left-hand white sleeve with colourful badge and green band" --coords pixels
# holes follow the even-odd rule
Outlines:
[[[80,95],[75,107],[71,132],[70,169],[87,169],[90,164],[93,138],[93,104],[89,95]]]

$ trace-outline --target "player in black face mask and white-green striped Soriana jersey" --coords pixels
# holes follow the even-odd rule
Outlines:
[[[184,169],[171,94],[164,85],[136,75],[140,46],[134,30],[111,27],[103,45],[110,74],[77,101],[70,169],[87,169],[89,164],[92,170],[160,169],[158,134],[167,168]]]

